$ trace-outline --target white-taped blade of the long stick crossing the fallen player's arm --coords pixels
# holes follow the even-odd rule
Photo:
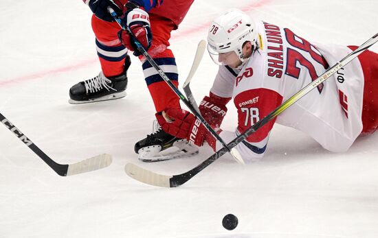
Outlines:
[[[166,176],[162,174],[156,174],[153,171],[143,169],[132,163],[128,163],[124,167],[124,171],[131,178],[144,182],[147,185],[153,185],[158,187],[170,187],[170,178],[173,176]]]

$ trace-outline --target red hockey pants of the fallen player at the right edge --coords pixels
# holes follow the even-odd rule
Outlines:
[[[357,47],[350,46],[352,50]],[[358,56],[364,72],[364,101],[361,135],[372,134],[378,128],[378,53],[365,51]]]

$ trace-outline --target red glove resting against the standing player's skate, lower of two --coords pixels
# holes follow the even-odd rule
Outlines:
[[[156,118],[163,130],[173,136],[187,139],[190,143],[199,146],[206,140],[210,146],[215,147],[214,136],[206,130],[199,119],[184,109],[168,108],[163,112],[157,112]]]

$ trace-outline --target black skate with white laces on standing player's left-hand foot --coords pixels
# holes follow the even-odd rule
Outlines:
[[[69,89],[70,104],[86,104],[89,102],[107,101],[126,96],[127,69],[131,64],[127,56],[124,64],[124,73],[113,77],[105,77],[100,72],[95,78],[75,84]]]

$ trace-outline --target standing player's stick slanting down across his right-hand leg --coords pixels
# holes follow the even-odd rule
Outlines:
[[[120,18],[117,16],[117,14],[114,12],[112,8],[108,7],[108,11],[111,14],[111,16],[113,16],[113,19],[115,19],[115,21],[118,23],[118,25],[120,25],[122,29],[125,29],[127,32],[129,32],[129,34],[133,34],[130,29],[126,29],[126,27],[122,25]],[[146,60],[156,69],[160,77],[162,77],[162,79],[168,84],[168,86],[172,88],[172,90],[176,93],[179,99],[181,99],[181,101],[184,102],[184,104],[189,108],[189,110],[194,114],[194,116],[197,117],[199,121],[201,121],[203,126],[205,126],[205,128],[212,134],[212,136],[214,136],[216,140],[219,141],[223,145],[223,147],[225,147],[225,150],[227,150],[227,152],[230,152],[230,154],[234,157],[236,161],[238,161],[238,163],[245,164],[240,154],[238,154],[236,150],[230,150],[227,147],[226,143],[223,141],[223,139],[221,139],[221,136],[219,136],[219,134],[217,134],[212,129],[212,127],[205,121],[205,119],[203,119],[203,117],[199,114],[199,112],[197,112],[197,110],[193,108],[193,106],[190,104],[188,99],[186,99],[186,97],[179,91],[179,89],[175,86],[175,84],[173,84],[173,82],[170,81],[170,79],[164,73],[162,68],[159,67],[159,65],[155,62],[155,60],[153,60],[153,58],[151,58],[151,56],[147,53],[146,49],[144,49],[144,47],[136,40],[135,36],[133,38],[134,38],[133,43],[136,45],[137,50],[140,51],[140,53],[142,53],[144,57],[146,57]]]

